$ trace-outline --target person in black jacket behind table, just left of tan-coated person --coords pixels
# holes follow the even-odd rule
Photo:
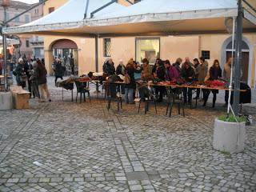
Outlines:
[[[195,78],[194,69],[192,68],[192,66],[190,66],[190,64],[188,62],[184,63],[184,67],[182,67],[181,74],[182,74],[182,78],[184,78],[186,82],[194,81],[194,78]],[[184,103],[186,104],[186,102],[188,102],[189,105],[191,105],[192,89],[184,88],[183,96],[184,96]],[[188,100],[187,100],[187,97],[188,97]]]

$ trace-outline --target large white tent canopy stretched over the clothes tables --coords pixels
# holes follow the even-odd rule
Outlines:
[[[78,1],[80,2],[77,3]],[[235,17],[238,14],[236,0],[143,0],[129,7],[123,7],[114,3],[98,12],[98,14],[95,14],[94,18],[87,18],[83,22],[69,22],[67,25],[66,17],[70,17],[72,14],[64,13],[71,9],[76,9],[76,6],[81,6],[82,2],[86,5],[86,0],[70,0],[62,8],[56,10],[55,13],[46,15],[44,18],[36,21],[37,24],[32,22],[30,26],[18,26],[5,29],[4,31],[5,33],[72,36],[99,34],[102,37],[225,33],[225,18]],[[102,0],[91,0],[91,2],[93,2],[91,6],[96,4],[102,6]],[[71,7],[72,5],[73,7]],[[95,10],[97,9],[96,7],[94,6]],[[85,6],[79,7],[77,10],[79,10],[77,12],[85,10]],[[88,12],[91,12],[94,9],[90,7],[89,10]],[[79,17],[83,18],[83,14],[82,11]],[[64,18],[54,18],[59,19],[59,23],[47,24],[43,22],[46,20],[52,22],[50,18],[57,15],[66,16],[63,16]],[[255,25],[255,15],[245,10],[244,31],[256,32]]]

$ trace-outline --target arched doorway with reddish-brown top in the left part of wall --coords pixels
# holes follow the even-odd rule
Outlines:
[[[74,74],[78,74],[78,46],[70,39],[58,39],[51,46],[54,58],[60,58],[66,66],[66,74],[71,74],[70,62],[74,60]]]

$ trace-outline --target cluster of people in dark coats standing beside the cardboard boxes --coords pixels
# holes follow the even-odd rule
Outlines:
[[[47,70],[43,60],[19,58],[13,74],[18,86],[28,86],[30,97],[38,98],[38,102],[51,102],[47,87]]]

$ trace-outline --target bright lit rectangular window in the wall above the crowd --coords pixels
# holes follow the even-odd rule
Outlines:
[[[147,58],[152,64],[160,58],[160,38],[136,38],[136,61]]]

